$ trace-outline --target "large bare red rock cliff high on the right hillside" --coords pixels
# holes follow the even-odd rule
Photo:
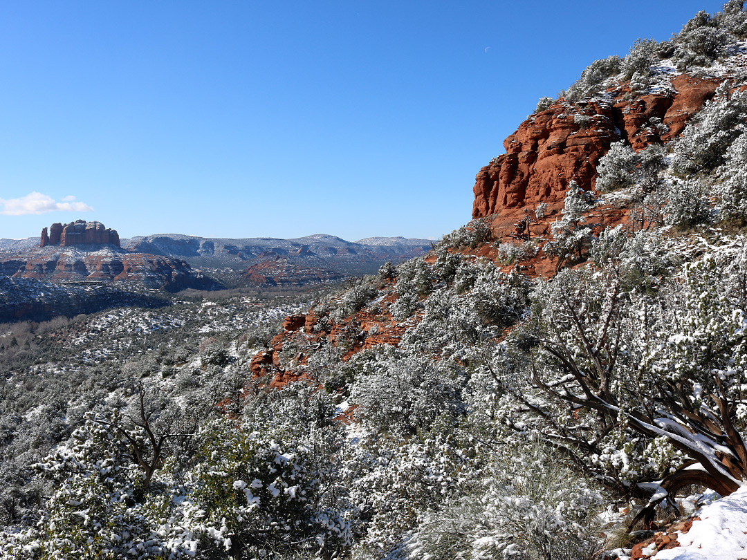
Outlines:
[[[666,93],[635,98],[624,86],[610,91],[612,101],[555,102],[522,122],[503,142],[506,153],[477,173],[472,217],[501,213],[513,214],[504,215],[513,220],[518,214],[506,209],[532,208],[539,202],[551,209],[562,206],[571,180],[586,190],[594,186],[598,161],[611,143],[622,139],[639,150],[678,137],[718,85],[679,75]],[[657,119],[664,126],[657,126]]]

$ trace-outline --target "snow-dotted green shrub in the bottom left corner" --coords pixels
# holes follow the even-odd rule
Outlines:
[[[41,511],[37,528],[13,545],[17,556],[6,557],[93,560],[187,555],[189,546],[185,550],[170,541],[161,526],[173,515],[170,497],[179,489],[157,481],[144,488],[130,453],[125,432],[89,419],[68,445],[37,465],[56,483],[55,491]]]

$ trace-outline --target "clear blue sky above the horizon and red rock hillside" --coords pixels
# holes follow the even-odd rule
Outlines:
[[[540,96],[721,6],[4,1],[2,208],[59,209],[0,237],[439,237]]]

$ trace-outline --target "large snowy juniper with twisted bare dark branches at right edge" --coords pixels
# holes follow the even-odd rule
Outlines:
[[[727,295],[743,275],[721,266],[697,261],[654,296],[624,290],[613,266],[539,285],[509,345],[519,359],[490,366],[516,403],[506,422],[616,491],[734,491],[747,479],[746,317]],[[522,370],[524,385],[509,382]]]

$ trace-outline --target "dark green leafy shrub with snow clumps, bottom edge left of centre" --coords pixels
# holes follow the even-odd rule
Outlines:
[[[190,479],[189,528],[203,535],[203,557],[332,553],[350,544],[344,513],[323,500],[327,467],[311,447],[273,435],[282,432],[249,432],[232,420],[199,433],[204,461]]]

